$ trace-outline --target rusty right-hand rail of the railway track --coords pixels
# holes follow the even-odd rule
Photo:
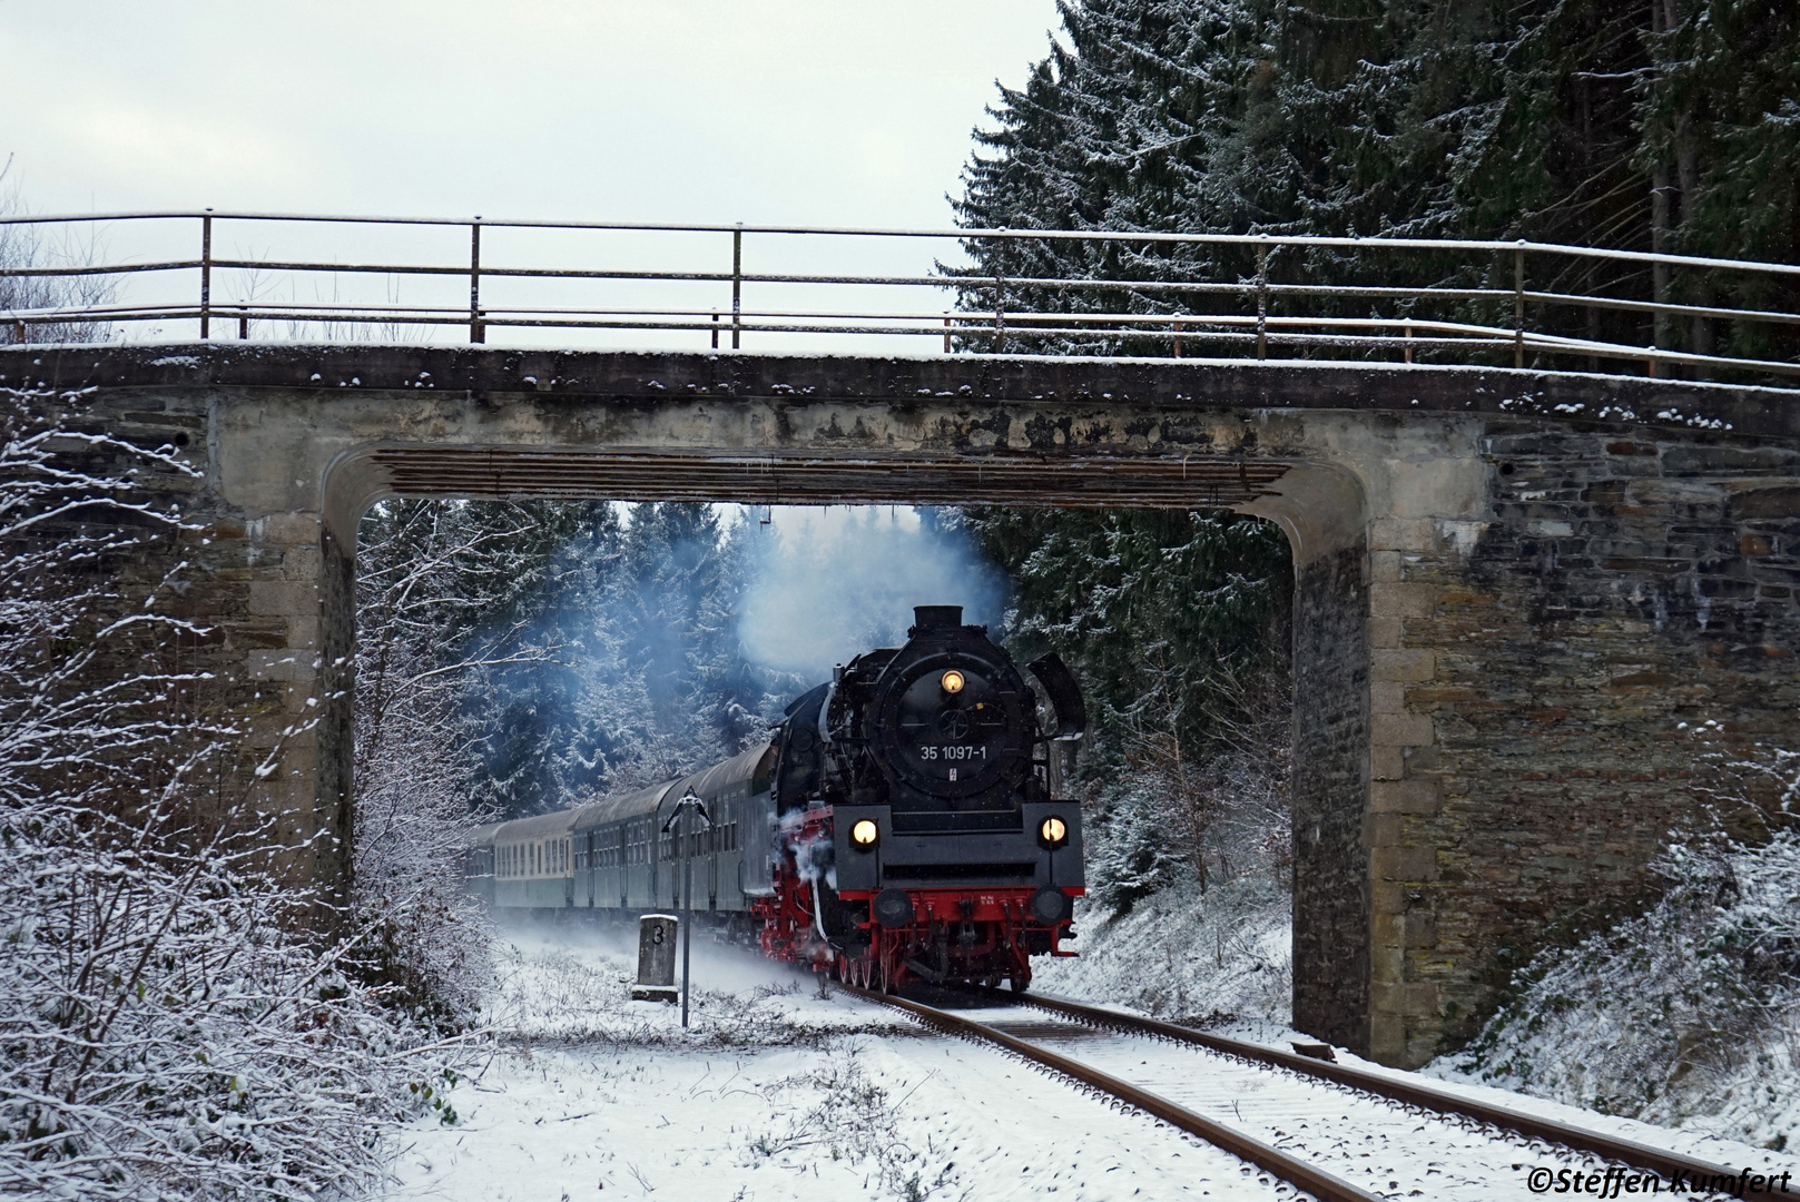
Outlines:
[[[1557,1123],[1555,1119],[1541,1119],[1534,1114],[1525,1114],[1523,1110],[1489,1105],[1485,1101],[1476,1101],[1474,1098],[1460,1098],[1447,1090],[1431,1089],[1429,1085],[1415,1085],[1406,1080],[1395,1080],[1384,1072],[1370,1072],[1368,1069],[1355,1069],[1346,1063],[1330,1063],[1325,1060],[1314,1060],[1312,1056],[1298,1056],[1294,1053],[1280,1051],[1278,1047],[1246,1044],[1244,1040],[1208,1035],[1206,1031],[1193,1031],[1190,1027],[1177,1027],[1172,1022],[1159,1022],[1141,1015],[1125,1015],[1114,1009],[1100,1009],[1098,1006],[1084,1006],[1082,1002],[1069,1002],[1044,993],[1026,993],[1019,999],[999,991],[985,993],[992,999],[1004,997],[1006,1000],[1015,1000],[1019,1006],[1033,1006],[1037,1009],[1087,1022],[1096,1027],[1111,1027],[1114,1031],[1130,1031],[1136,1035],[1156,1035],[1179,1044],[1193,1044],[1208,1051],[1224,1053],[1228,1056],[1238,1056],[1242,1060],[1267,1063],[1280,1069],[1292,1069],[1294,1072],[1305,1072],[1307,1076],[1336,1081],[1337,1085],[1346,1085],[1366,1094],[1391,1098],[1393,1101],[1418,1107],[1420,1110],[1458,1114],[1517,1132],[1526,1139],[1543,1139],[1544,1143],[1562,1144],[1564,1148],[1575,1148],[1577,1152],[1591,1152],[1634,1168],[1647,1168],[1665,1179],[1676,1179],[1678,1175],[1685,1179],[1733,1177],[1737,1173],[1737,1170],[1726,1170],[1706,1161],[1696,1161],[1685,1155],[1676,1155],[1674,1152],[1663,1152],[1661,1148],[1640,1144],[1633,1139],[1602,1135],[1600,1132],[1570,1126],[1568,1123]]]

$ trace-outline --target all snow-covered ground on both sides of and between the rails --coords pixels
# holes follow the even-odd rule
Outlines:
[[[1048,993],[1118,1000],[1120,982],[1129,981],[1139,1009],[1184,1015],[1204,1006],[1229,1015],[1224,1026],[1238,1035],[1282,1042],[1291,1035],[1285,945],[1280,919],[1267,927],[1258,918],[1267,898],[1255,889],[1235,896],[1215,889],[1206,905],[1161,898],[1161,909],[1139,907],[1105,928],[1098,954],[1042,964],[1039,982]],[[1220,934],[1238,937],[1237,959],[1220,955]],[[1139,957],[1136,973],[1121,950],[1127,936],[1154,952]],[[497,1049],[452,1090],[457,1123],[421,1119],[410,1128],[389,1202],[916,1202],[1051,1193],[1105,1202],[1292,1193],[1210,1144],[995,1049],[821,991],[814,977],[747,950],[697,943],[693,1026],[682,1031],[677,1008],[626,1000],[634,955],[626,932],[508,937],[491,1004]],[[1260,966],[1238,963],[1246,957]],[[1204,991],[1208,981],[1219,984],[1217,995]],[[1591,1164],[1192,1049],[1154,1044],[1147,1056],[1141,1042],[1120,1036],[1053,1045],[1386,1197],[1525,1198],[1534,1166]],[[1701,1132],[1480,1085],[1447,1087],[1699,1159],[1800,1177],[1793,1157]]]

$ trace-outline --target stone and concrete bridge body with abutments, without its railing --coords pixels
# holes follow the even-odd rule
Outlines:
[[[1793,394],[1404,365],[407,347],[0,353],[180,444],[245,797],[347,878],[382,497],[1235,507],[1294,552],[1294,1022],[1388,1063],[1627,903],[1708,745],[1800,747]],[[202,542],[205,540],[205,542]],[[256,777],[256,767],[275,772]]]

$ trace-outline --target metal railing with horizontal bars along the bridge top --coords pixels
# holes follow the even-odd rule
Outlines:
[[[902,338],[943,353],[1535,365],[1787,387],[1800,376],[1800,266],[1532,241],[212,211],[0,218],[13,247],[41,247],[58,227],[85,227],[86,254],[0,265],[0,342],[167,338],[171,327],[409,342],[463,340],[466,329],[472,344],[497,331],[558,331],[562,342],[610,331],[686,349]],[[221,254],[223,229],[290,243],[301,230],[302,252]],[[419,234],[436,239],[423,256],[382,254]],[[374,254],[346,254],[346,241],[369,236]],[[580,243],[592,236],[610,243]],[[497,238],[515,238],[513,257],[495,254]],[[182,254],[184,239],[198,256]],[[131,254],[113,256],[119,241]],[[752,241],[787,270],[745,270]],[[947,254],[927,270],[886,266],[895,247],[916,256],[922,243]],[[805,270],[859,257],[877,265]],[[1071,259],[1078,274],[1044,272]],[[311,299],[301,281],[313,281]],[[346,281],[356,295],[344,295]],[[283,283],[284,299],[274,295]],[[427,295],[401,300],[403,286]]]

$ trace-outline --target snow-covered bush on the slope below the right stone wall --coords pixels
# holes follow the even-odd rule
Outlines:
[[[1654,905],[1537,955],[1444,1071],[1777,1148],[1800,1135],[1800,831],[1769,817],[1755,842],[1674,842]]]

